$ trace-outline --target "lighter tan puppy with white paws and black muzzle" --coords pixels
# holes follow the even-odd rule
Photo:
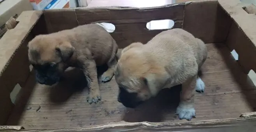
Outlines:
[[[135,108],[161,89],[182,84],[177,114],[180,119],[191,120],[196,115],[194,91],[205,88],[198,69],[206,58],[202,40],[178,28],[159,33],[145,45],[132,43],[122,50],[117,63],[118,101]]]

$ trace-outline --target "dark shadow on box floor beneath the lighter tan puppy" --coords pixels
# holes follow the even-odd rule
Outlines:
[[[163,89],[156,97],[149,99],[137,108],[126,108],[122,120],[126,122],[162,122],[165,115],[173,115],[173,120],[177,119],[174,115],[180,100],[181,85]],[[170,116],[168,116],[170,117]],[[168,119],[168,120],[172,120]]]

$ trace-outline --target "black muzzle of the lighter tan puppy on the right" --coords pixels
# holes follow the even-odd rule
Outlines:
[[[143,101],[137,97],[137,93],[129,93],[122,87],[119,87],[118,102],[121,102],[127,108],[136,108]]]

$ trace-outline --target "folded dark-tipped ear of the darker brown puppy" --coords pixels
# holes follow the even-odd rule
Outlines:
[[[63,62],[68,61],[75,52],[75,48],[70,43],[62,43],[56,46],[55,50],[60,55]]]

